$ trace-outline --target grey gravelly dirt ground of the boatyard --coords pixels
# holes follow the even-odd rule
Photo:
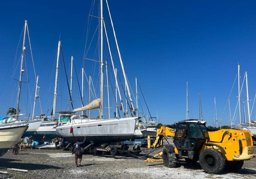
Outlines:
[[[159,149],[161,150],[161,149]],[[157,151],[151,153],[154,155]],[[130,155],[112,157],[111,155],[83,155],[81,167],[75,166],[74,158],[69,151],[63,150],[24,150],[19,155],[13,155],[8,151],[0,158],[0,166],[29,170],[28,173],[6,171],[9,175],[0,174],[1,179],[112,179],[112,178],[161,178],[161,179],[186,179],[186,178],[256,178],[256,158],[245,161],[243,167],[237,173],[224,171],[218,175],[204,173],[199,162],[196,165],[188,165],[184,160],[178,160],[176,168],[167,168],[162,162],[144,162],[141,158]]]

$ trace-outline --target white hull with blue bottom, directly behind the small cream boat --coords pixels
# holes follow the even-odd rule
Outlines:
[[[42,119],[31,120],[31,121],[16,121],[14,123],[2,124],[2,125],[0,125],[0,129],[17,127],[17,126],[26,126],[28,124],[29,128],[22,135],[22,138],[24,138],[24,137],[31,136],[33,133],[35,133],[35,131],[39,128],[39,126],[41,125],[42,122],[43,122]]]

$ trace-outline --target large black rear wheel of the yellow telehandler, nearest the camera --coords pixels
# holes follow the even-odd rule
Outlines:
[[[205,149],[200,153],[199,162],[206,173],[218,174],[225,168],[225,159],[216,149]]]

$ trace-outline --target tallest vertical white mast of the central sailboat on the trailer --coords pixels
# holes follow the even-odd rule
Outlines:
[[[103,115],[103,2],[100,0],[100,107],[99,118]]]

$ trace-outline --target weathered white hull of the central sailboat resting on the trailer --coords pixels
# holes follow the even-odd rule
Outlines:
[[[76,141],[87,137],[86,143],[94,141],[95,144],[112,143],[134,138],[135,121],[139,117],[120,119],[88,120],[76,124],[65,124],[56,128],[57,133],[63,138]],[[73,128],[70,133],[70,128]]]

